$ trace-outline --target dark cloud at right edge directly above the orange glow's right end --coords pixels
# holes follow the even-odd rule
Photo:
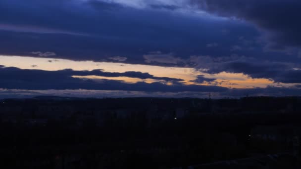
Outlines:
[[[237,55],[219,58],[193,56],[191,61],[195,63],[197,69],[210,74],[243,73],[251,78],[265,78],[287,84],[301,83],[301,69],[294,69],[300,68],[298,63],[260,61]]]

